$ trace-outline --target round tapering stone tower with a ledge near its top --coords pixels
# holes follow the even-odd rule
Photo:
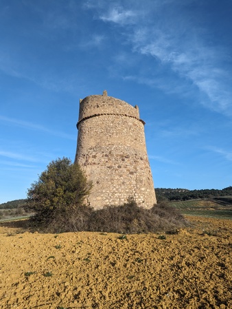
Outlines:
[[[75,162],[93,182],[88,203],[94,209],[128,198],[145,208],[156,204],[144,125],[137,106],[106,91],[80,100]]]

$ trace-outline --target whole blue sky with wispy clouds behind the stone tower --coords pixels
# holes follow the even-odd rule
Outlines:
[[[76,153],[79,99],[139,105],[154,187],[232,185],[231,0],[1,0],[0,203]]]

